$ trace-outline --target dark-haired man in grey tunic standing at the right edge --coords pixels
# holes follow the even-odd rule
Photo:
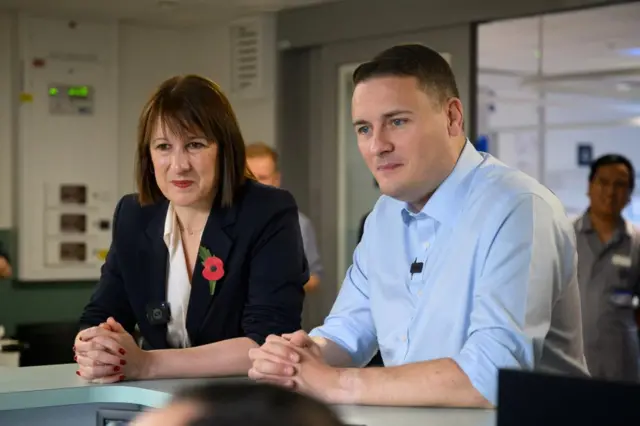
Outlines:
[[[575,222],[585,356],[589,372],[603,379],[640,380],[640,234],[622,218],[634,184],[628,159],[598,158],[589,173],[589,209]]]

